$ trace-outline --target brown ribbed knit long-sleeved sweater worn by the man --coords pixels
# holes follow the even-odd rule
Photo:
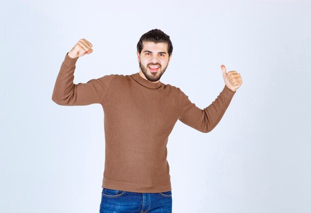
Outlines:
[[[225,85],[210,106],[200,109],[179,88],[160,81],[152,83],[139,73],[105,75],[74,84],[78,58],[72,59],[67,54],[52,100],[63,106],[101,104],[103,107],[103,188],[138,193],[170,191],[166,144],[176,121],[210,132],[235,94]]]

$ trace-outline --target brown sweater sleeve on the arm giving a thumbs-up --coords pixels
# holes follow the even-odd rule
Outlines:
[[[178,119],[198,131],[210,132],[223,117],[235,93],[236,91],[232,91],[225,85],[216,100],[210,106],[201,109],[191,103],[188,96],[180,90],[182,104],[181,114]]]

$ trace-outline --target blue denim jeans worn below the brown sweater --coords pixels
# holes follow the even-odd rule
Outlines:
[[[171,213],[172,191],[136,193],[103,188],[99,213]]]

